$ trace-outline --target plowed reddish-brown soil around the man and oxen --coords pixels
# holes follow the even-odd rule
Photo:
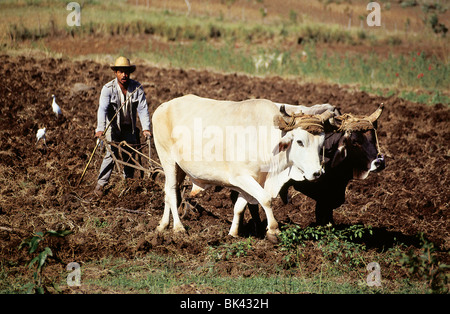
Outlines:
[[[83,183],[76,186],[95,145],[100,90],[113,78],[109,67],[89,61],[1,55],[0,69],[2,260],[28,261],[27,253],[18,251],[17,246],[32,232],[48,229],[74,232],[53,243],[59,256],[70,261],[110,255],[134,257],[152,250],[200,256],[206,254],[208,245],[230,241],[227,233],[232,209],[228,190],[208,191],[192,200],[199,207],[183,218],[189,236],[180,238],[170,231],[154,232],[164,207],[164,193],[158,182],[145,177],[126,185],[115,174],[106,196],[92,199],[101,162],[97,154]],[[151,112],[162,102],[187,93],[216,99],[331,103],[355,114],[371,113],[384,102],[386,109],[379,120],[378,134],[387,167],[364,181],[350,183],[346,203],[334,212],[335,222],[371,225],[375,247],[389,245],[394,238],[412,241],[423,232],[440,249],[450,248],[448,107],[427,107],[337,85],[302,84],[277,77],[138,65],[133,78],[143,83]],[[85,85],[80,88],[77,83]],[[63,119],[57,120],[51,110],[52,94],[62,108]],[[47,148],[41,142],[35,145],[36,131],[43,126],[47,128]],[[154,149],[152,157],[157,158]],[[315,221],[314,203],[301,194],[286,206],[276,200],[274,214],[281,225],[306,227]],[[252,230],[248,227],[244,232]],[[279,263],[273,244],[261,240],[257,247],[253,254],[255,265]],[[233,273],[232,264],[226,267],[227,273]]]

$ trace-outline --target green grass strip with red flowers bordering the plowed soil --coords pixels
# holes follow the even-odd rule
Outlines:
[[[149,50],[137,56],[181,68],[354,84],[363,91],[385,97],[397,95],[425,104],[450,104],[450,98],[443,94],[450,87],[449,65],[433,56],[427,58],[422,52],[411,52],[407,57],[389,55],[388,58],[374,53],[363,56],[323,52],[319,55],[314,44],[306,45],[300,53],[241,48],[232,42],[215,47],[200,41],[174,44],[168,49],[150,45]],[[261,60],[259,66],[258,60]]]

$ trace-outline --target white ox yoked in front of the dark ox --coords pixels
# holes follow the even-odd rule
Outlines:
[[[317,116],[316,121],[322,127],[329,117]],[[299,127],[301,118],[290,123],[281,119],[279,106],[269,100],[233,102],[187,95],[161,104],[152,117],[165,173],[165,207],[157,231],[167,228],[170,212],[174,231],[185,230],[178,205],[187,174],[200,188],[216,185],[239,192],[230,235],[238,235],[245,204],[259,203],[267,218],[267,237],[275,240],[279,229],[271,200],[290,178],[315,180],[322,174],[325,136],[323,127],[315,134]]]

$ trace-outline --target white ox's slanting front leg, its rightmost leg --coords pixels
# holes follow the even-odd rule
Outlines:
[[[266,236],[271,242],[278,242],[277,235],[280,233],[278,223],[275,220],[272,211],[272,198],[259,183],[250,176],[235,177],[230,182],[236,187],[241,188],[245,193],[255,198],[261,204],[267,218]]]

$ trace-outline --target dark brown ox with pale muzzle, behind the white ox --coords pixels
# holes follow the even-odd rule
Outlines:
[[[316,201],[316,223],[319,225],[333,223],[333,210],[345,202],[345,191],[350,180],[364,180],[370,172],[380,172],[386,167],[377,137],[377,121],[384,105],[381,104],[368,116],[341,114],[338,109],[329,107],[330,105],[316,105],[309,108],[277,105],[288,114],[299,111],[319,114],[324,110],[335,113],[332,119],[335,130],[325,135],[323,161],[325,174],[314,182],[290,179],[280,190],[280,197],[284,203],[288,202],[288,190],[291,186],[311,197]],[[232,198],[236,198],[233,193]],[[258,206],[249,204],[249,210],[258,229],[261,223]]]

